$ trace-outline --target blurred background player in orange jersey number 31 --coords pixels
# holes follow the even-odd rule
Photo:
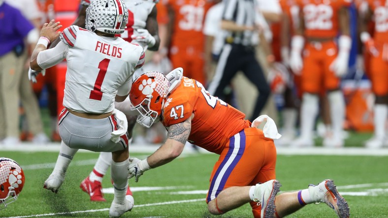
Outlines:
[[[163,0],[169,14],[169,58],[174,68],[184,67],[185,76],[206,85],[204,40],[202,33],[206,12],[213,0]]]

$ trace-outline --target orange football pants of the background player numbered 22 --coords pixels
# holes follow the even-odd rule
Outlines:
[[[306,43],[303,51],[303,92],[319,94],[322,90],[339,88],[340,79],[329,70],[336,57],[337,47],[333,41]]]

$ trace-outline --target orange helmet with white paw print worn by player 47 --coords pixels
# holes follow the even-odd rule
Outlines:
[[[140,75],[130,88],[131,110],[137,110],[137,122],[150,127],[162,113],[165,97],[171,83],[160,72],[146,72]]]

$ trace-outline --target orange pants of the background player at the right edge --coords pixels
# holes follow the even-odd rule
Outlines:
[[[373,93],[382,96],[388,94],[388,60],[383,58],[383,55],[388,53],[388,44],[385,44],[384,47],[378,45],[376,47],[379,55],[370,55],[370,80]]]

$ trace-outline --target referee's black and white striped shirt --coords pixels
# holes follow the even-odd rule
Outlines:
[[[255,0],[223,0],[223,20],[232,21],[240,26],[254,26],[256,23]],[[226,31],[226,41],[245,46],[258,44],[258,32],[245,30],[243,32]]]

